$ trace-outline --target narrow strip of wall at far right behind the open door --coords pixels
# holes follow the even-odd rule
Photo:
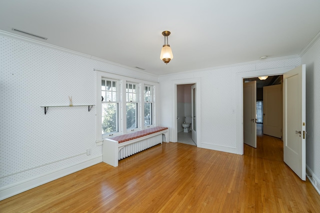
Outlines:
[[[301,62],[306,64],[306,167],[320,193],[320,36],[302,55]]]

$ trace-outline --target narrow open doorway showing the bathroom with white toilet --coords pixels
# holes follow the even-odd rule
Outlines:
[[[176,85],[177,142],[190,145],[196,145],[194,87],[194,83]]]

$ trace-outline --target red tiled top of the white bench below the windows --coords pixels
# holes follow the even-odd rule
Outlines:
[[[118,141],[118,143],[121,142],[125,142],[125,141],[129,141],[129,140],[133,140],[139,137],[143,137],[158,131],[163,131],[165,129],[168,129],[168,127],[163,127],[163,126],[155,126],[155,127],[151,127],[151,128],[146,128],[140,131],[136,131],[136,132],[131,132],[131,133],[126,133],[126,134],[122,134],[122,135],[118,135],[118,136],[114,136],[114,137],[109,137],[108,139],[111,140],[115,140]]]

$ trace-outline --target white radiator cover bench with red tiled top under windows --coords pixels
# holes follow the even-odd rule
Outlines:
[[[168,127],[155,126],[103,139],[103,162],[118,166],[118,160],[162,143],[162,134],[168,140]]]

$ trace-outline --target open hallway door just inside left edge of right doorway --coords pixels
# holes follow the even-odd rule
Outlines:
[[[243,142],[256,148],[256,81],[243,83]]]

